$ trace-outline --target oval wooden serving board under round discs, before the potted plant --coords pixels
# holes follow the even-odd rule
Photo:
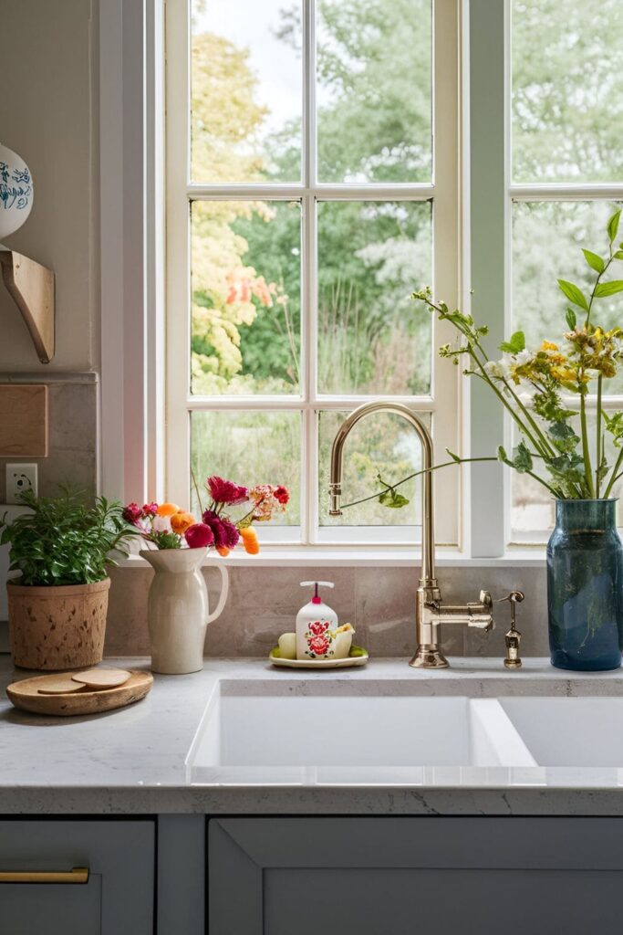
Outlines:
[[[66,677],[70,678],[71,672]],[[98,691],[78,691],[67,695],[41,695],[39,688],[45,687],[52,680],[58,682],[59,673],[37,675],[33,679],[22,679],[7,687],[7,696],[11,704],[33,714],[54,714],[58,717],[72,717],[78,714],[99,714],[123,708],[126,704],[139,701],[148,694],[153,684],[151,672],[130,673],[130,678],[115,688],[100,688]]]

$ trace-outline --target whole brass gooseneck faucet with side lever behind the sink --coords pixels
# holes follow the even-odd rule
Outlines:
[[[434,515],[432,505],[432,438],[415,412],[400,403],[364,403],[347,417],[333,439],[331,451],[330,516],[341,516],[342,453],[350,430],[367,415],[390,412],[403,416],[415,428],[422,443],[422,568],[416,593],[416,639],[418,647],[409,665],[415,669],[446,669],[448,661],[442,652],[441,625],[462,624],[490,630],[493,624],[492,601],[488,591],[481,591],[472,604],[443,603],[435,577]]]

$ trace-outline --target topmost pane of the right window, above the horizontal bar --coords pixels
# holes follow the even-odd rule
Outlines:
[[[621,181],[620,0],[513,0],[513,179]]]

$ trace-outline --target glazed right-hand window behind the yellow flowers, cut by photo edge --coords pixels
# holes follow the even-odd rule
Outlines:
[[[623,203],[620,2],[512,0],[510,49],[510,328],[539,343],[564,329],[557,278],[584,286],[591,270],[580,248],[603,242]],[[600,304],[603,324],[620,324],[618,298]],[[623,383],[615,389],[623,396]],[[620,408],[621,396],[606,401]],[[544,541],[551,497],[515,472],[509,486],[510,539]]]

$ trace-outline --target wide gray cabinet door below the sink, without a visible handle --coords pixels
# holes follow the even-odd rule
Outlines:
[[[618,931],[623,819],[231,818],[209,935]]]

